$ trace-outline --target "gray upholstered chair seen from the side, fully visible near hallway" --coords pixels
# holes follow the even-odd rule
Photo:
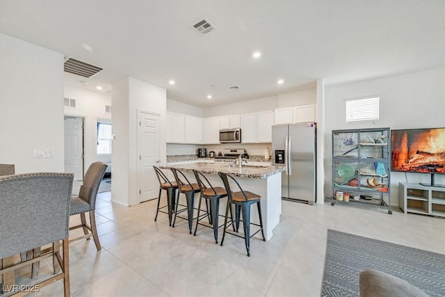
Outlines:
[[[79,236],[70,241],[76,241],[79,239],[94,239],[97,250],[101,250],[99,243],[99,236],[96,230],[96,196],[99,190],[100,182],[104,178],[106,170],[106,164],[100,161],[91,163],[90,167],[86,171],[86,175],[83,178],[83,184],[79,191],[79,196],[71,199],[70,216],[74,214],[80,214],[81,223],[70,227],[70,230],[77,228],[83,228],[83,236]],[[85,213],[90,214],[90,224],[86,222]]]

